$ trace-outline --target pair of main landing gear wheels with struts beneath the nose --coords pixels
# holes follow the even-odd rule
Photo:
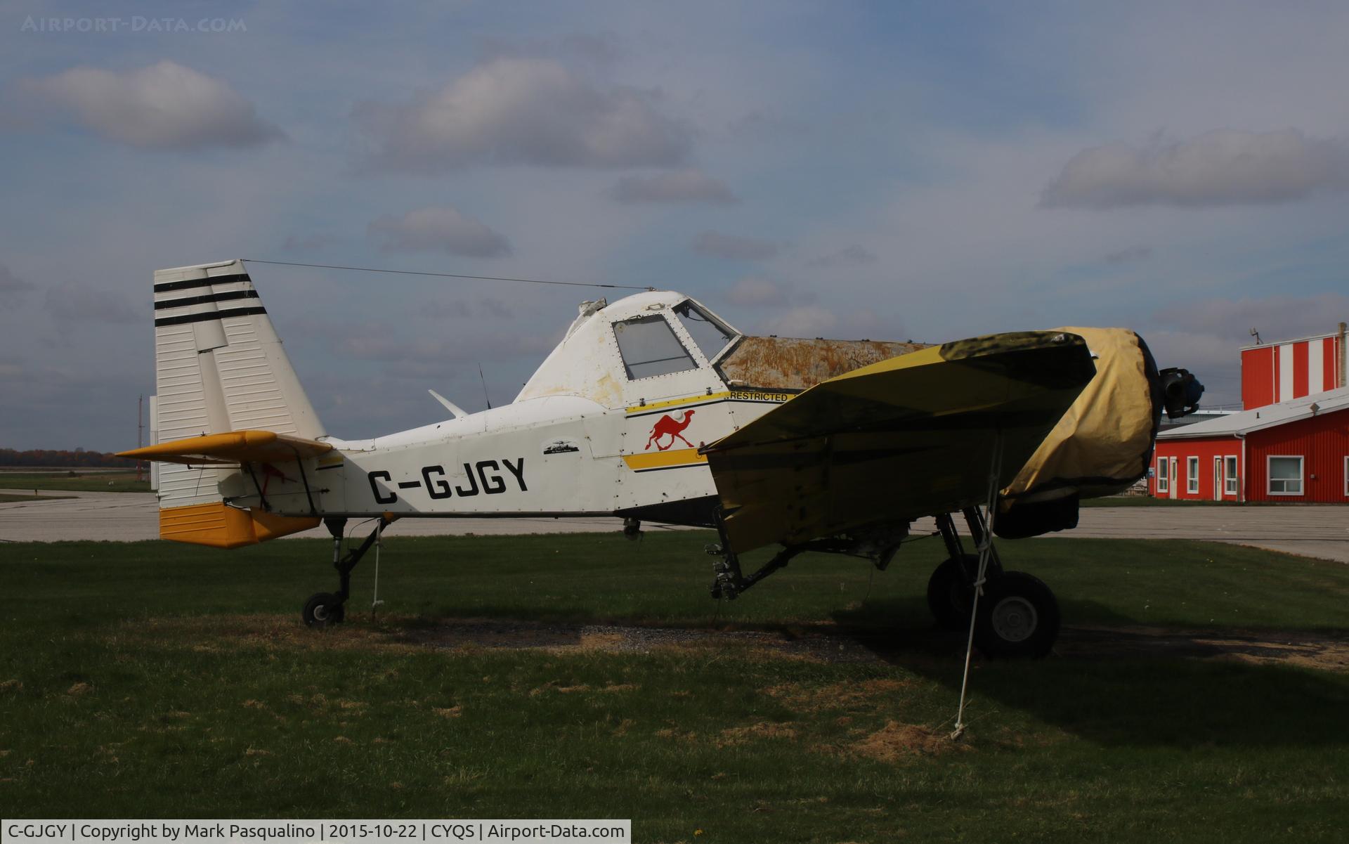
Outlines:
[[[978,547],[986,530],[983,514],[971,507],[963,515]],[[939,627],[969,630],[979,555],[965,551],[950,514],[938,516],[936,524],[950,557],[928,580],[928,608]],[[987,657],[1044,657],[1059,636],[1059,603],[1054,592],[1032,574],[1004,570],[994,547],[989,549],[978,605],[974,644]]]

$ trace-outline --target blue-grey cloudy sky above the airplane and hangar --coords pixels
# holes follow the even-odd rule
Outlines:
[[[152,272],[233,258],[746,333],[1120,325],[1237,403],[1252,329],[1349,320],[1345,43],[1342,3],[11,0],[0,448],[134,446]],[[250,272],[344,438],[510,402],[621,295]]]

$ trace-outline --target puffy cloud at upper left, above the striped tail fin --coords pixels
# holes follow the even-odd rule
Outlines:
[[[283,138],[228,84],[162,61],[136,70],[71,67],[19,85],[34,116],[147,150],[244,147]]]

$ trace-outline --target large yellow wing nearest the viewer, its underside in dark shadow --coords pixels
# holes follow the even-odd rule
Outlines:
[[[960,340],[823,382],[704,449],[731,546],[795,545],[985,503],[1091,380],[1067,332]]]

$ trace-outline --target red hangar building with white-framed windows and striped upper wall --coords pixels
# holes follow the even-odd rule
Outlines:
[[[1157,435],[1148,492],[1210,502],[1349,503],[1340,332],[1241,349],[1245,410]]]

